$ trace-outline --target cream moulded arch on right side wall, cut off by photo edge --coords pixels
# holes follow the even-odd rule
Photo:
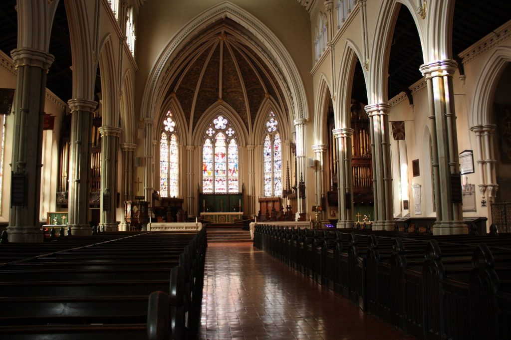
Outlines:
[[[472,95],[472,126],[491,124],[495,90],[508,62],[511,62],[511,46],[499,46],[484,63]]]

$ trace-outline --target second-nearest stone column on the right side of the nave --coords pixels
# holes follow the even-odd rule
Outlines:
[[[392,175],[390,163],[390,130],[388,112],[390,105],[385,103],[367,105],[373,157],[373,192],[375,221],[373,230],[394,230]]]

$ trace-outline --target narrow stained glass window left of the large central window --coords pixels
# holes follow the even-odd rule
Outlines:
[[[159,193],[161,197],[179,195],[179,150],[175,126],[176,123],[169,111],[162,123],[160,135]]]

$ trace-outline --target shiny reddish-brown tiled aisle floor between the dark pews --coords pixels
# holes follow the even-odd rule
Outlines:
[[[201,339],[415,339],[251,244],[210,244]]]

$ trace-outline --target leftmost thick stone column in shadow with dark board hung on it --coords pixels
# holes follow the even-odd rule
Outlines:
[[[7,232],[10,242],[41,242],[42,125],[47,72],[54,57],[32,48],[17,48],[11,56],[17,75],[11,162],[14,195]]]

